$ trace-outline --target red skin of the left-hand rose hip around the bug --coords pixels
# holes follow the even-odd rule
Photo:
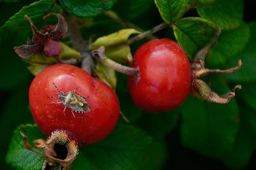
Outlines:
[[[70,108],[61,104],[57,98],[58,92],[52,82],[64,93],[77,89],[86,97],[91,111],[88,113],[76,113],[74,118]],[[115,92],[102,81],[92,78],[90,74],[79,67],[57,64],[42,70],[32,81],[29,88],[29,103],[33,118],[46,136],[56,130],[64,130],[70,134],[70,138],[77,142],[78,146],[88,145],[100,141],[108,136],[114,129],[119,115],[119,103]]]

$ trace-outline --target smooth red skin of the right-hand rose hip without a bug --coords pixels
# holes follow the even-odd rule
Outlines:
[[[140,76],[128,76],[128,88],[132,100],[141,110],[173,110],[190,92],[188,57],[171,39],[154,39],[140,46],[131,67],[140,69]]]

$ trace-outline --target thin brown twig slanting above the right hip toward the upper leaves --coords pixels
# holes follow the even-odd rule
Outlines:
[[[155,32],[160,31],[162,29],[165,29],[167,27],[172,27],[172,24],[168,25],[165,22],[163,22],[163,23],[157,25],[156,27],[153,27],[152,29],[150,29],[148,31],[145,31],[145,32],[142,32],[141,34],[138,34],[138,36],[134,36],[133,38],[128,39],[127,43],[129,45],[131,45],[132,43],[134,43],[136,41],[139,41],[140,39],[146,38],[147,36],[149,36],[151,34],[154,34]]]

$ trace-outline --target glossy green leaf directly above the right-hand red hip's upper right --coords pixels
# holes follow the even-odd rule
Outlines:
[[[218,27],[203,18],[189,17],[175,22],[173,31],[186,55],[193,59],[199,50],[214,41]]]

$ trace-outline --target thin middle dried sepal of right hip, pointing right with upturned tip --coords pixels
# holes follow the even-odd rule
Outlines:
[[[195,71],[194,73],[194,77],[195,78],[200,78],[209,74],[229,74],[229,73],[233,73],[234,71],[236,71],[237,69],[240,69],[242,66],[242,60],[240,59],[238,61],[238,64],[236,67],[233,67],[231,69],[226,69],[226,70],[220,70],[220,69],[200,69],[198,71]]]

